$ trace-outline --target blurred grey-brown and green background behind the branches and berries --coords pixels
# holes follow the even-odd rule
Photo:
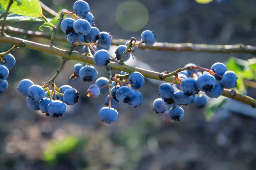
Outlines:
[[[72,11],[75,1],[42,2],[54,11],[63,8]],[[151,30],[156,34],[157,42],[255,45],[256,1],[214,0],[209,4],[198,4],[194,0],[87,2],[96,26],[100,31],[111,32],[114,39],[140,39],[142,31]],[[33,31],[39,31],[41,24],[7,23]],[[50,30],[44,28],[44,32],[50,33]],[[65,35],[59,31],[57,36]],[[47,39],[20,37],[45,44],[49,42]],[[70,48],[66,42],[56,41],[55,45]],[[11,47],[2,43],[0,51]],[[81,53],[81,48],[76,50]],[[7,80],[9,88],[0,94],[0,169],[256,169],[256,110],[250,106],[231,100],[219,109],[209,106],[198,109],[192,104],[183,107],[185,116],[182,121],[166,124],[162,115],[152,110],[153,101],[159,97],[158,85],[161,82],[146,80],[140,89],[142,104],[133,108],[121,103],[117,121],[109,125],[100,122],[98,117],[106,94],[95,99],[87,97],[86,89],[92,83],[80,78],[69,80],[77,62],[68,61],[56,84],[58,87],[69,84],[77,89],[80,102],[67,107],[63,117],[46,117],[40,111],[30,110],[26,98],[16,87],[25,78],[42,85],[55,74],[61,59],[26,48],[15,50],[13,55],[16,65]],[[129,63],[144,68],[149,65],[152,70],[162,72],[173,71],[187,63],[210,68],[215,62],[246,63],[253,57],[246,53],[138,50],[135,60],[131,57]],[[108,75],[104,68],[97,69],[99,76]],[[243,73],[239,73],[242,79]],[[251,79],[255,81],[255,72],[253,75]],[[242,85],[240,91],[256,98],[253,88]]]

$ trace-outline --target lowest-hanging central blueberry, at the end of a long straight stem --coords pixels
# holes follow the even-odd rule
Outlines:
[[[102,122],[110,124],[116,121],[118,113],[114,108],[103,107],[99,111],[99,117]]]

